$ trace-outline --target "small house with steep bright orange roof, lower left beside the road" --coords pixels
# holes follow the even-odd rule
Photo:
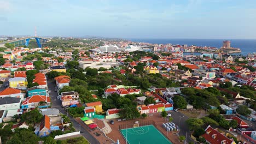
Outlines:
[[[49,136],[51,133],[51,123],[50,118],[47,115],[44,115],[40,125],[37,125],[35,130],[35,134],[39,137]]]

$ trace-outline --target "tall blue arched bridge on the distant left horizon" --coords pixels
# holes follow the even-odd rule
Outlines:
[[[15,47],[16,46],[28,46],[30,43],[30,39],[36,39],[38,47],[42,47],[42,44],[44,44],[46,41],[49,39],[42,38],[42,37],[25,37],[25,38],[20,38],[20,39],[15,39],[15,40],[10,40],[10,41],[4,41],[3,44],[9,43],[13,44]]]

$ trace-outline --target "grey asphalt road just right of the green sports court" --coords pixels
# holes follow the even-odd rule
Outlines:
[[[191,132],[189,130],[189,127],[188,127],[188,124],[185,122],[187,121],[188,117],[183,115],[183,113],[181,112],[175,112],[175,111],[171,111],[171,112],[168,112],[168,113],[171,113],[171,117],[173,118],[173,123],[175,123],[176,125],[179,126],[179,128],[181,129],[181,131],[179,131],[179,135],[182,136],[186,136],[186,133],[187,133],[187,142],[194,142],[193,139],[191,139],[190,135],[191,135]],[[181,121],[179,121],[179,119],[181,119]]]

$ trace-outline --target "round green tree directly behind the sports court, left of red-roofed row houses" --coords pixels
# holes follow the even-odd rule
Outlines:
[[[124,108],[119,111],[119,116],[121,118],[133,119],[138,118],[141,115],[139,114],[137,107],[135,105],[124,105]]]

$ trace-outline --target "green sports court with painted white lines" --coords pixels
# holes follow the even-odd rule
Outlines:
[[[143,127],[121,129],[121,134],[129,144],[150,144],[161,143],[171,144],[164,135],[158,131],[153,125],[146,125]]]

